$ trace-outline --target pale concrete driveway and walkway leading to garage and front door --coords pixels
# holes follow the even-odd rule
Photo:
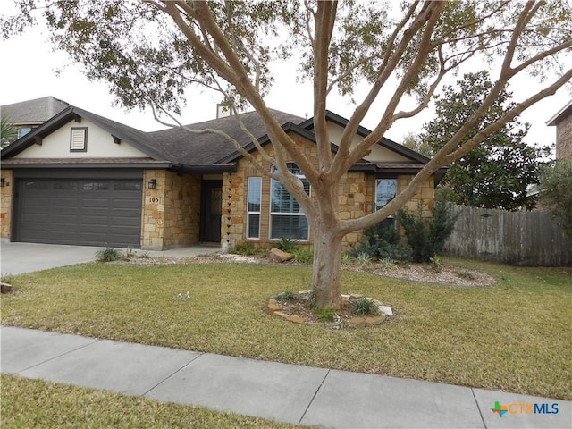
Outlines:
[[[0,245],[0,273],[3,275],[31,273],[58,266],[82,264],[96,259],[101,248],[91,246],[62,246],[37,243],[2,243]],[[220,248],[212,246],[191,246],[164,251],[135,250],[150,257],[194,257],[215,253]]]

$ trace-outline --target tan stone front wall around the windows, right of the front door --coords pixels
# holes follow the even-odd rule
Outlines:
[[[316,159],[315,144],[307,140],[298,139],[299,146],[306,148],[306,155],[310,159]],[[269,151],[270,153],[270,151]],[[255,155],[259,160],[260,155]],[[317,161],[315,162],[317,164]],[[248,160],[241,159],[237,165],[237,171],[223,174],[223,219],[221,237],[223,247],[234,248],[246,241],[254,246],[268,248],[273,241],[268,239],[270,230],[270,179],[263,177],[262,199],[260,214],[260,239],[246,239],[247,223],[247,195],[248,177],[261,177]],[[405,189],[413,176],[398,176],[399,191]],[[374,210],[374,175],[366,175],[364,172],[348,172],[342,176],[339,185],[339,210],[341,219],[351,219],[364,214],[370,214]],[[419,207],[423,217],[431,217],[433,210],[433,178],[425,181],[423,188],[408,202],[406,209],[410,213],[418,214]],[[349,249],[356,244],[362,235],[362,231],[350,232],[344,239],[344,248]],[[313,240],[310,228],[311,244]],[[301,243],[302,244],[302,243]]]

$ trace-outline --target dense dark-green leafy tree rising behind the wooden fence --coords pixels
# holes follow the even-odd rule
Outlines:
[[[488,71],[467,73],[456,87],[445,87],[435,104],[436,119],[425,124],[425,132],[420,136],[422,145],[437,152],[482,105],[491,88]],[[511,97],[511,93],[501,90],[481,122],[459,141],[459,147],[512,109],[515,103]],[[449,190],[449,198],[465,206],[503,210],[534,206],[534,198],[527,194],[527,189],[538,183],[541,159],[550,154],[550,147],[527,145],[522,139],[528,128],[529,124],[514,118],[478,147],[453,161],[442,181],[442,186]]]

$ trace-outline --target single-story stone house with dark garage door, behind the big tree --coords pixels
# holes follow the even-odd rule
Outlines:
[[[317,164],[313,121],[273,114]],[[257,113],[240,119],[261,144],[269,142]],[[327,121],[335,150],[348,121],[331,112]],[[190,127],[223,130],[259,157],[233,115]],[[360,127],[355,140],[369,132]],[[427,161],[382,139],[341,178],[341,218],[387,204]],[[295,164],[289,168],[302,177]],[[445,171],[425,182],[409,210],[421,206],[431,215],[433,190]],[[282,237],[312,242],[290,193],[226,139],[181,129],[143,132],[71,105],[2,151],[0,190],[4,241],[142,249],[233,248],[245,241],[268,246]],[[309,185],[307,191],[311,195]],[[348,245],[358,239],[358,232],[345,238]]]

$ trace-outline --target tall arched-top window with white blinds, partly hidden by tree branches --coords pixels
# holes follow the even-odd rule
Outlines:
[[[302,181],[304,190],[310,195],[310,184],[298,165],[287,163],[288,171]],[[308,225],[302,207],[280,181],[271,181],[270,189],[270,239],[282,237],[292,240],[308,240]]]

